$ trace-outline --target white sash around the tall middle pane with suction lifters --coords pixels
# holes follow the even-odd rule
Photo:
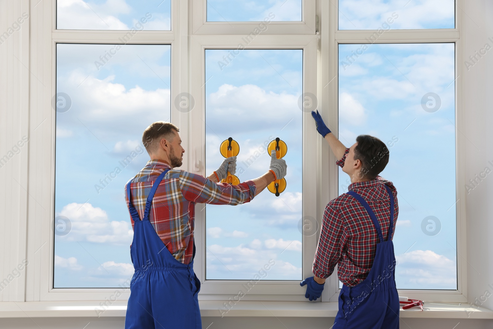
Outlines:
[[[207,176],[205,170],[205,50],[206,49],[236,49],[237,36],[200,36],[194,37],[191,44],[192,72],[191,93],[196,96],[195,110],[191,113],[190,144],[191,150],[196,150],[197,157],[201,161],[199,174]],[[252,42],[253,43],[253,42]],[[257,36],[254,44],[246,46],[246,49],[303,49],[303,92],[316,93],[317,87],[317,37],[316,36]],[[200,95],[200,97],[198,97]],[[198,108],[197,108],[198,107]],[[193,114],[200,110],[201,115]],[[312,125],[311,114],[303,115],[303,214],[302,216],[312,216],[319,218],[316,213],[316,164],[307,161],[307,158],[314,158],[316,154],[317,136]],[[192,168],[192,167],[191,167]],[[202,205],[197,205],[195,213],[195,254],[194,270],[197,277],[202,282],[199,299],[215,299],[215,294],[228,294],[235,296],[238,291],[243,289],[242,284],[248,280],[204,280],[205,278],[205,210]],[[201,211],[202,210],[202,211]],[[302,241],[302,264],[303,276],[309,276],[312,272],[313,256],[316,248],[315,236],[305,237]],[[303,300],[304,292],[299,285],[299,281],[278,281],[261,280],[255,284],[242,299],[244,300],[272,300],[273,295],[279,295],[279,300]],[[225,298],[225,299],[227,299]]]

